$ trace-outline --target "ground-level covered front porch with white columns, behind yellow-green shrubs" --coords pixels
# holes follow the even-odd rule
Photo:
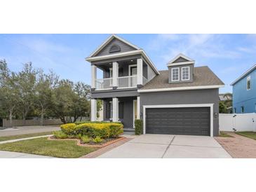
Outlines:
[[[100,98],[103,101],[103,120],[121,122],[124,128],[134,128],[135,119],[140,118],[140,97]],[[91,121],[96,121],[97,100],[91,100]]]

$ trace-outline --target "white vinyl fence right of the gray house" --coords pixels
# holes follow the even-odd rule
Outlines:
[[[256,114],[219,114],[220,131],[256,132]]]

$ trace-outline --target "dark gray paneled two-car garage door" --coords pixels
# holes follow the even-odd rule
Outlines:
[[[210,107],[148,108],[146,133],[210,136]]]

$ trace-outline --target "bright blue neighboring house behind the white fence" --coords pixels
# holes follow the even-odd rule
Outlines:
[[[256,112],[256,64],[233,83],[233,113]]]

